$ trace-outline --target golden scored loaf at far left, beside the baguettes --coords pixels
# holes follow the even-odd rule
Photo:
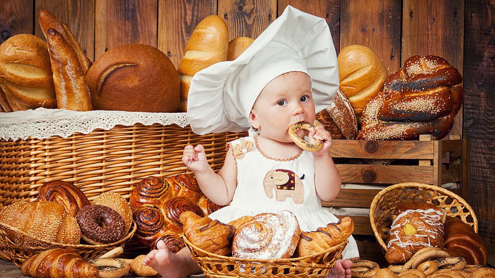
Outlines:
[[[47,44],[30,34],[8,38],[0,45],[0,87],[5,112],[56,108]]]

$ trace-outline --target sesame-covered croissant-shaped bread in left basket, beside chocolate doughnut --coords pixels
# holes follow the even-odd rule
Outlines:
[[[16,202],[0,211],[0,223],[17,228],[27,234],[51,242],[79,244],[81,230],[74,217],[68,215],[64,207],[55,202]],[[10,240],[17,244],[38,246],[31,238],[11,233]]]

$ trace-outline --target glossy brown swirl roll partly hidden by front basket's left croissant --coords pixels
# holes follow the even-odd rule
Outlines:
[[[182,232],[182,222],[179,219],[181,213],[192,211],[199,216],[203,216],[203,212],[199,206],[185,197],[172,197],[163,203],[163,212],[165,213],[167,227],[175,232]]]

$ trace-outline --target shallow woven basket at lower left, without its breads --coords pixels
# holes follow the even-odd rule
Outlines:
[[[99,256],[114,249],[115,247],[120,246],[124,248],[126,242],[128,242],[136,232],[136,229],[136,222],[133,221],[130,232],[124,238],[110,244],[63,244],[43,240],[22,232],[14,227],[10,227],[8,225],[0,223],[0,258],[11,261],[16,266],[20,267],[22,265],[22,262],[39,252],[55,248],[72,248],[76,249],[81,257],[89,260],[98,258]],[[12,242],[9,237],[9,234],[12,233],[14,233],[15,238],[23,237],[24,242],[29,242],[30,245],[36,246],[21,246],[17,243]]]

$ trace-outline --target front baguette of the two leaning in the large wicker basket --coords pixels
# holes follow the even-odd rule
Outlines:
[[[75,111],[92,110],[90,89],[76,52],[55,29],[49,28],[46,36],[57,107]]]

